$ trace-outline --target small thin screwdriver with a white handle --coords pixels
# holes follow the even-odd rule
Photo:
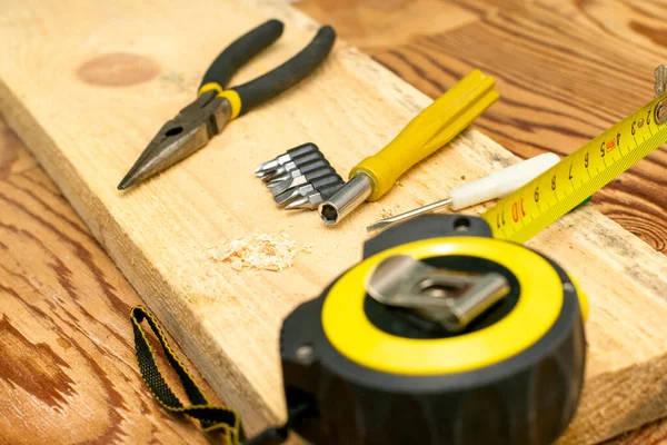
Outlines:
[[[446,199],[375,221],[366,230],[384,229],[445,206],[449,206],[452,210],[459,210],[491,199],[502,198],[537,178],[559,161],[560,158],[558,155],[552,152],[538,155],[496,171],[485,178],[449,190],[449,197]]]

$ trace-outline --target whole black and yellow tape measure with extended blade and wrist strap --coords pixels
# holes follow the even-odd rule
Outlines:
[[[667,140],[667,67],[656,78],[656,99],[481,218],[426,215],[367,240],[359,264],[282,324],[283,426],[245,441],[236,412],[208,404],[135,308],[151,392],[232,445],[279,444],[289,431],[318,445],[554,443],[584,383],[588,304],[573,277],[520,243]],[[142,319],[192,406],[159,373]]]

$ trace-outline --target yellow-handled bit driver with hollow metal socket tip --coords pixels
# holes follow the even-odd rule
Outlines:
[[[496,102],[495,86],[492,77],[474,70],[436,99],[387,147],[351,169],[348,182],[320,204],[322,221],[336,225],[361,202],[382,197],[410,167],[448,144]]]

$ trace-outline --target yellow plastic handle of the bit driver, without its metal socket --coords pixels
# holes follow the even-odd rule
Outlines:
[[[410,167],[454,139],[498,100],[495,86],[492,77],[474,70],[417,115],[387,147],[355,166],[350,178],[364,172],[374,182],[367,200],[379,199]]]

